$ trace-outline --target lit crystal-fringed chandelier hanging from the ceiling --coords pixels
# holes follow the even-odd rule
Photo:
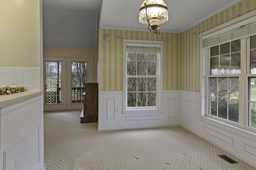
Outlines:
[[[150,31],[160,34],[160,24],[168,21],[168,9],[165,2],[163,0],[144,0],[140,7],[139,21],[148,25]]]

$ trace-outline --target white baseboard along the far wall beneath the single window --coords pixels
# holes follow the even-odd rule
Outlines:
[[[170,127],[170,126],[180,126],[180,123],[157,124],[157,125],[118,126],[118,127],[99,127],[98,126],[98,131],[121,130],[121,129],[140,129],[140,128],[152,128],[152,127]]]

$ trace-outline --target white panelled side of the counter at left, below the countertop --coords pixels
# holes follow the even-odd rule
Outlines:
[[[23,92],[22,92],[23,93]],[[11,94],[14,95],[14,94]],[[0,108],[0,170],[42,170],[43,95]],[[18,168],[15,167],[18,164]]]

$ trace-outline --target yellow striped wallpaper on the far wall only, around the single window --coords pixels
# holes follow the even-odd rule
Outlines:
[[[109,41],[104,35],[111,35]],[[164,41],[163,89],[178,90],[180,88],[180,37],[177,33],[160,33],[156,35],[150,31],[124,31],[112,29],[99,30],[99,63],[100,63],[100,91],[123,90],[123,39],[169,39]],[[124,38],[125,39],[125,38]]]

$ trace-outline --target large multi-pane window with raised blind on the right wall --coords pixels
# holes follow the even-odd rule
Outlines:
[[[256,132],[256,24],[244,22],[203,33],[204,115]]]

